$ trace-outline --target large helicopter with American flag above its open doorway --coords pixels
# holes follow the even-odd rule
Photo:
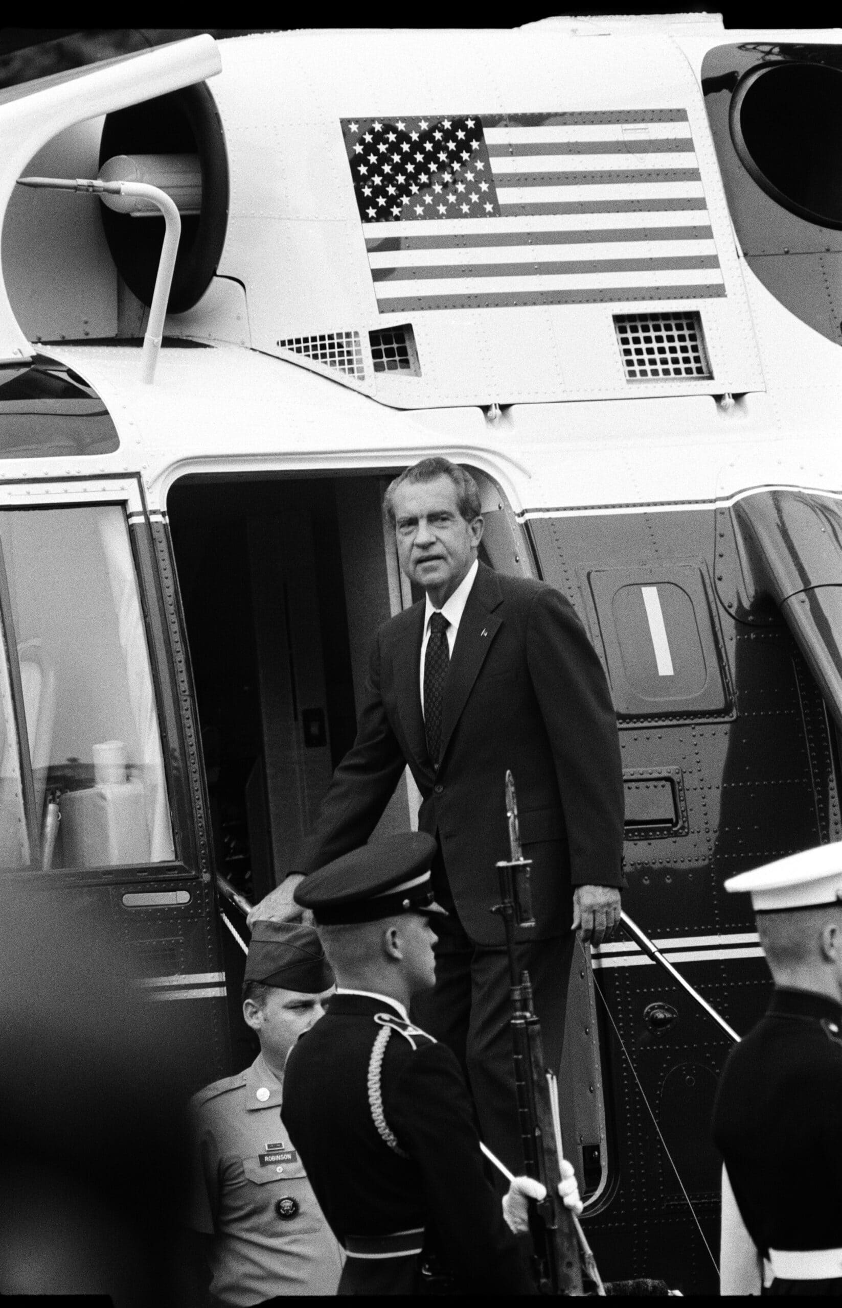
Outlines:
[[[841,84],[838,30],[678,14],[0,92],[5,888],[111,923],[185,1091],[245,1066],[242,914],[418,598],[384,489],[464,464],[481,557],[564,594],[612,689],[642,930],[577,948],[562,1129],[602,1274],[685,1294],[769,993],[723,882],[842,836]],[[375,838],[418,806],[407,773]]]

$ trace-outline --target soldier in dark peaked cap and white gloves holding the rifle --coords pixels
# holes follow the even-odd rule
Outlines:
[[[347,1260],[339,1294],[529,1294],[512,1232],[526,1197],[500,1206],[490,1184],[456,1056],[409,1019],[435,984],[430,867],[423,832],[344,854],[296,889],[337,976],[322,1020],[287,1063],[284,1117]],[[562,1194],[581,1210],[572,1168]]]

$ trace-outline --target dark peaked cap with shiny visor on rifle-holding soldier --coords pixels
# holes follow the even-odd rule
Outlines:
[[[295,901],[320,926],[377,922],[398,913],[444,913],[433,901],[430,866],[436,842],[423,831],[361,845],[299,883]]]

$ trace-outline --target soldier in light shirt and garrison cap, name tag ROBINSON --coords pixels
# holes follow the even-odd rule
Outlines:
[[[191,1101],[187,1224],[206,1237],[219,1305],[251,1308],[280,1295],[337,1292],[342,1252],[289,1142],[283,1107],[287,1054],[322,1016],[333,984],[313,927],[255,925],[242,1012],[261,1053]]]

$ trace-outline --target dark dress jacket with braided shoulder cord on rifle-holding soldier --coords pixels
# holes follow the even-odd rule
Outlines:
[[[381,1069],[382,1112],[405,1156],[378,1133],[368,1092],[382,1031],[376,1014],[401,1022],[380,999],[334,995],[287,1061],[284,1120],[334,1235],[347,1247],[348,1237],[423,1227],[426,1254],[441,1260],[460,1291],[529,1292],[500,1197],[485,1176],[462,1074],[445,1045],[424,1035],[410,1042],[393,1031]]]

